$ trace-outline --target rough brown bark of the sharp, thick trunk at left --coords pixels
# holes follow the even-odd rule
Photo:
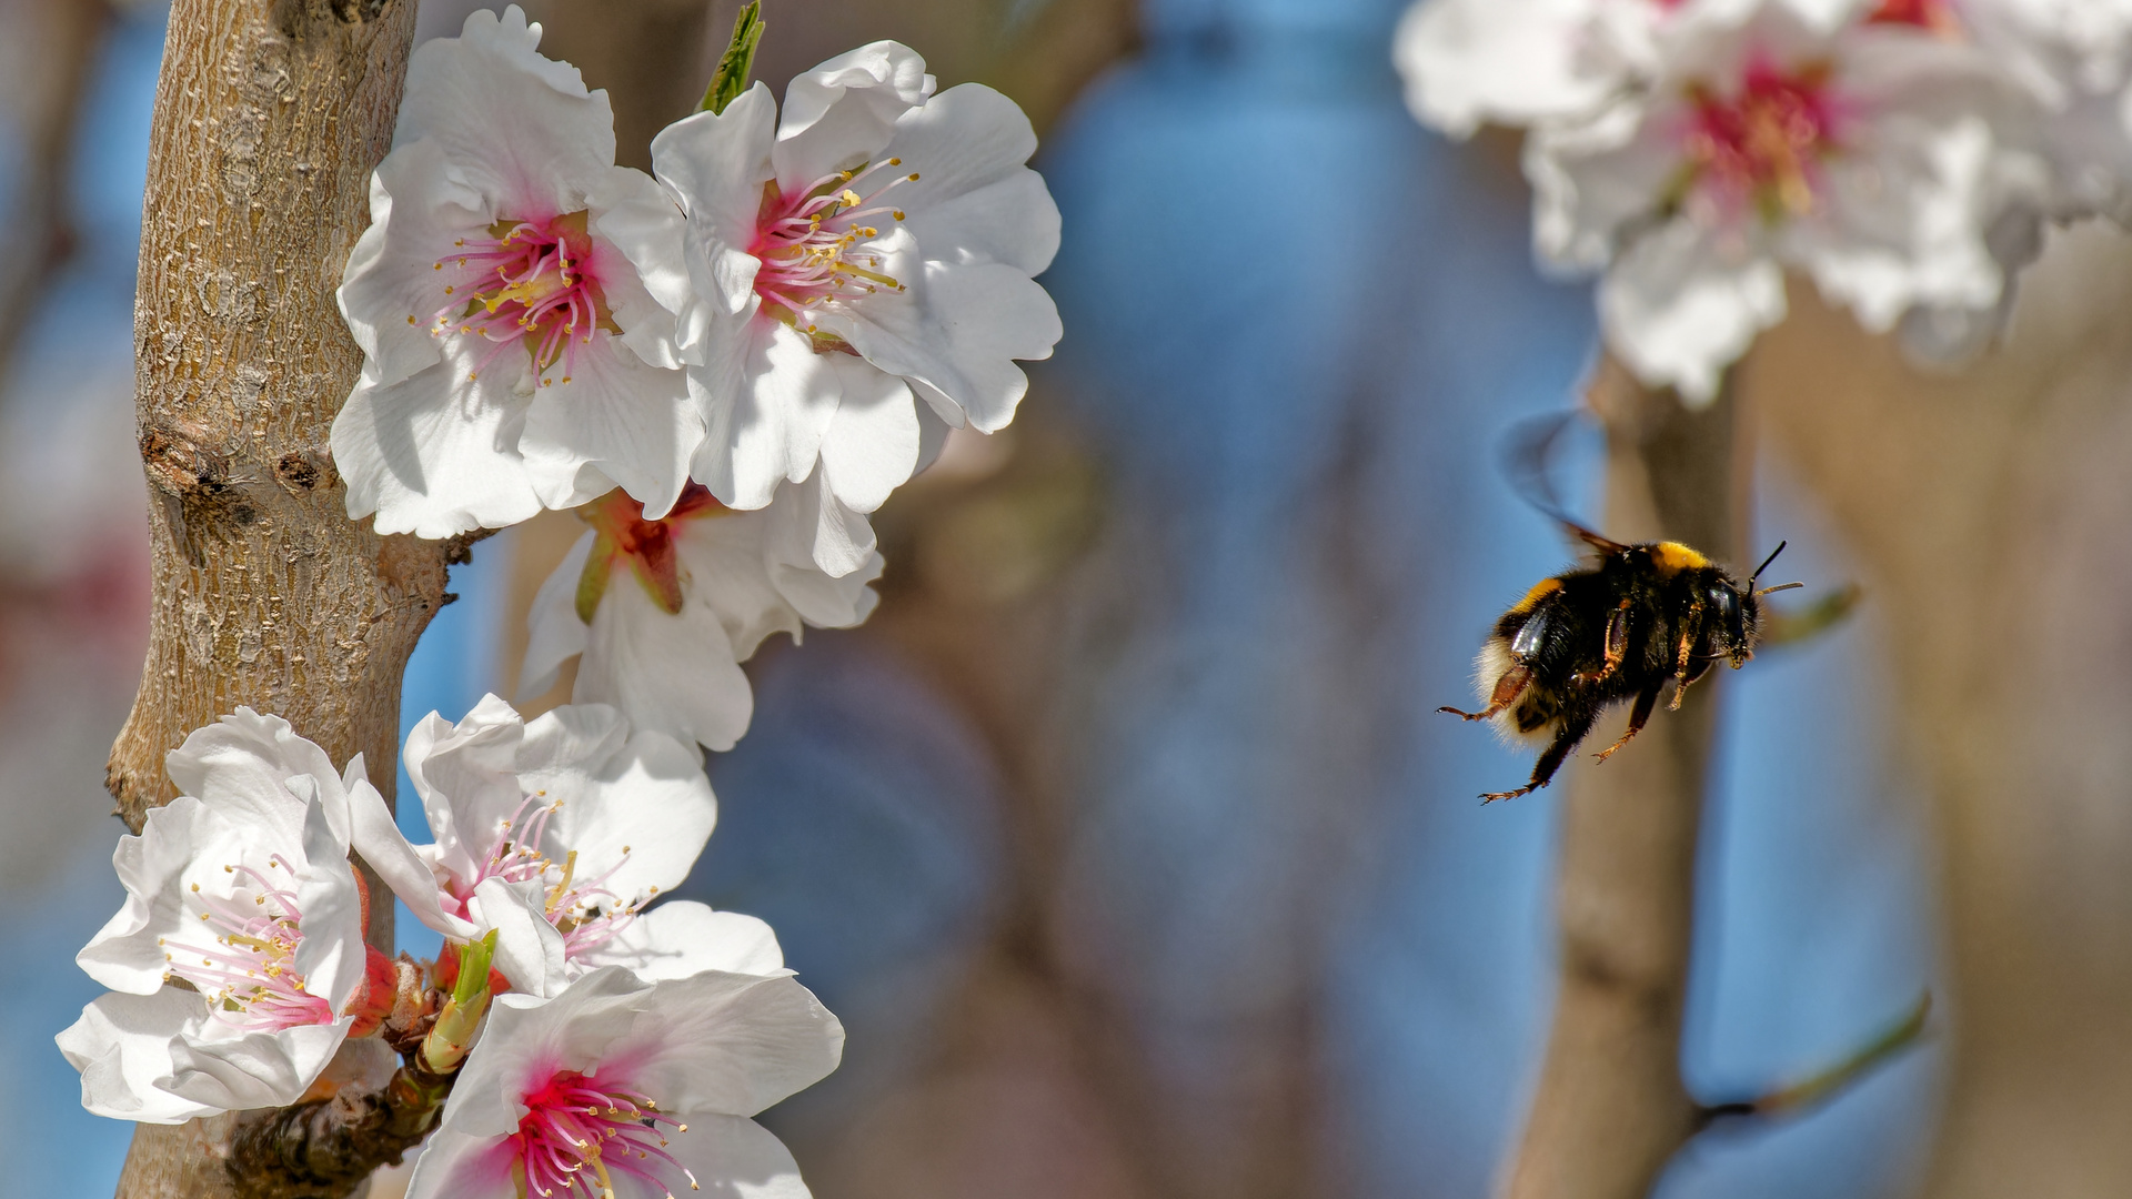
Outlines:
[[[134,309],[154,608],[109,785],[139,828],[162,757],[239,704],[392,794],[401,672],[463,546],[348,521],[326,435],[362,363],[335,309],[399,111],[411,0],[175,0]],[[390,947],[392,907],[371,939]],[[239,1120],[143,1124],[126,1199],[230,1193]]]

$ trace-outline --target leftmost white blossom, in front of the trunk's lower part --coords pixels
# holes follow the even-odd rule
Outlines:
[[[279,717],[237,708],[168,755],[179,798],[122,836],[126,905],[77,962],[111,988],[60,1033],[98,1116],[175,1124],[294,1103],[390,1009],[348,862],[362,772]]]

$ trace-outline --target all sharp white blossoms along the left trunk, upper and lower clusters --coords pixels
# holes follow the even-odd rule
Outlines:
[[[382,533],[574,508],[524,664],[544,691],[578,657],[574,702],[418,723],[420,845],[360,755],[335,768],[279,717],[188,736],[181,796],[122,838],[126,905],[79,954],[109,988],[60,1035],[92,1112],[175,1124],[360,1084],[441,1105],[401,1114],[429,1131],[418,1197],[806,1195],[750,1116],[836,1069],[842,1026],[763,922],[661,896],[716,821],[704,747],[748,725],[740,664],[863,621],[868,514],[951,429],[1004,427],[1015,361],[1049,356],[1032,277],[1057,209],[998,92],[936,94],[874,43],[793,79],[780,115],[746,87],[750,21],[650,175],[614,164],[605,94],[516,6],[416,49],[339,290],[365,365],[335,465]],[[365,943],[367,877],[437,960]]]

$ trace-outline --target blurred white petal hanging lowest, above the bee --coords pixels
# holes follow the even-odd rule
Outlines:
[[[1693,224],[1640,239],[1599,284],[1608,346],[1648,386],[1674,386],[1693,405],[1755,335],[1784,318],[1784,273],[1765,256],[1727,256]]]

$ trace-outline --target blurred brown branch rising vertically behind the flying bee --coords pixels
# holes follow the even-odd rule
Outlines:
[[[1674,538],[1738,563],[1746,469],[1731,390],[1689,412],[1601,367],[1588,399],[1608,429],[1610,538]],[[1603,766],[1567,770],[1561,992],[1509,1199],[1642,1199],[1701,1126],[1680,1077],[1680,1020],[1716,674]]]

